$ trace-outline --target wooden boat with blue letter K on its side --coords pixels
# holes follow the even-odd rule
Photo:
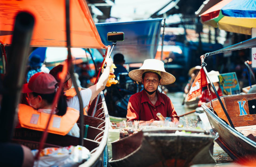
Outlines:
[[[211,127],[219,133],[215,141],[235,161],[256,161],[256,94],[222,96],[221,100],[235,128],[224,114],[217,99],[202,105]]]

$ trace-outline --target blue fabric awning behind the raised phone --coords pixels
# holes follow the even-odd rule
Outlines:
[[[155,58],[160,38],[161,19],[138,20],[131,22],[97,23],[96,27],[104,44],[107,32],[124,32],[124,41],[117,42],[115,53],[124,55],[125,63],[143,62],[145,59]]]

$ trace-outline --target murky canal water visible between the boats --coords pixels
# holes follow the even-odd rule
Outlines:
[[[176,93],[168,93],[167,96],[171,99],[175,111],[178,115],[185,114],[189,111],[192,111],[193,109],[188,109],[184,105],[181,105],[183,102],[183,93],[182,92],[176,92]],[[194,113],[187,115],[189,118],[194,118],[196,115]],[[112,147],[111,142],[117,140],[119,138],[119,129],[113,129],[109,131],[108,135],[108,141],[107,141],[107,147],[108,147],[108,158],[112,158]],[[214,142],[214,159],[217,161],[217,163],[225,163],[225,162],[233,162],[233,160],[228,156],[226,152],[222,150],[222,148]]]

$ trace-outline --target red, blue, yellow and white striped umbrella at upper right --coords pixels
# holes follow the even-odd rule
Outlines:
[[[223,0],[200,15],[203,24],[240,34],[256,28],[255,0]]]

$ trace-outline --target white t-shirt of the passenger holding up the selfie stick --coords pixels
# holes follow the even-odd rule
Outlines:
[[[82,97],[83,101],[83,108],[89,105],[90,99],[92,97],[92,90],[91,89],[83,89],[80,91],[80,95]],[[76,109],[80,112],[80,107],[79,107],[79,101],[77,95],[69,98],[67,100],[68,107],[71,107],[73,109]]]

